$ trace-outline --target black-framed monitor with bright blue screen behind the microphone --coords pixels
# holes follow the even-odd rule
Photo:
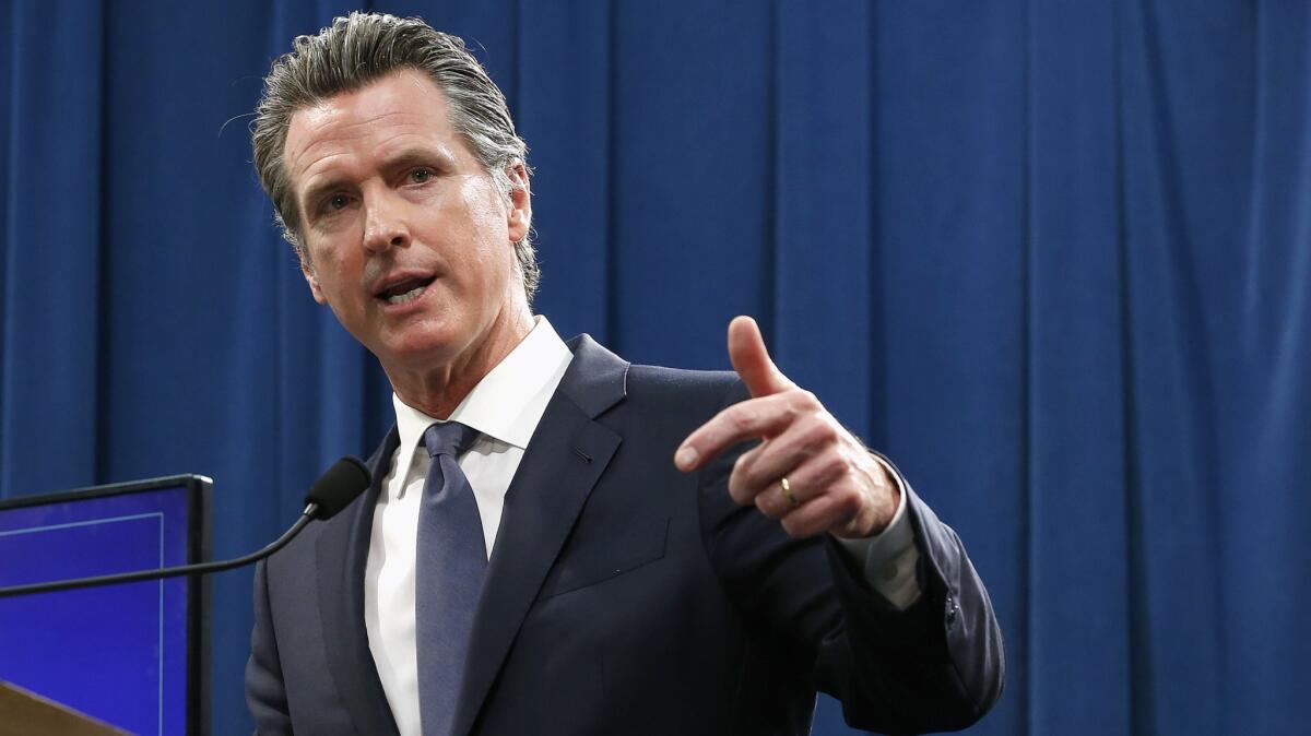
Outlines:
[[[0,587],[198,562],[207,481],[180,475],[0,506]],[[0,680],[132,733],[201,723],[203,583],[0,598]]]

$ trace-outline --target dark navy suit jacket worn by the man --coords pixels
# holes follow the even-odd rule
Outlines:
[[[733,456],[674,468],[683,437],[746,397],[735,375],[629,365],[586,335],[570,347],[506,494],[458,732],[808,733],[815,690],[893,733],[961,728],[991,706],[992,608],[914,492],[924,595],[899,612],[826,536],[792,540],[733,503]],[[257,570],[246,694],[261,733],[396,732],[363,610],[396,444],[393,428],[363,496]]]

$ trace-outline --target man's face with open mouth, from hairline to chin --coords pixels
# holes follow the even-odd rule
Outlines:
[[[526,309],[527,187],[506,204],[421,72],[298,111],[284,161],[315,300],[388,375],[469,360]],[[527,185],[522,166],[511,178]]]

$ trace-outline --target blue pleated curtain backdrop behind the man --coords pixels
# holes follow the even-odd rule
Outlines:
[[[231,557],[378,440],[244,117],[351,8],[0,12],[0,496],[208,474]],[[1311,5],[374,8],[509,96],[561,333],[720,368],[756,314],[960,530],[1009,660],[971,733],[1304,732]],[[214,580],[215,733],[249,728],[249,587]]]

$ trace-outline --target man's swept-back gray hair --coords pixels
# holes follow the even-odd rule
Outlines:
[[[417,69],[446,94],[451,126],[482,162],[506,202],[517,186],[509,170],[528,172],[528,147],[514,130],[505,94],[469,54],[464,41],[431,29],[420,18],[354,12],[333,20],[319,35],[298,35],[292,51],[273,63],[250,126],[254,168],[273,200],[282,237],[312,267],[300,236],[300,212],[282,158],[291,117],[337,94],[362,89],[392,72]],[[530,236],[514,244],[523,289],[532,304],[541,272]]]

